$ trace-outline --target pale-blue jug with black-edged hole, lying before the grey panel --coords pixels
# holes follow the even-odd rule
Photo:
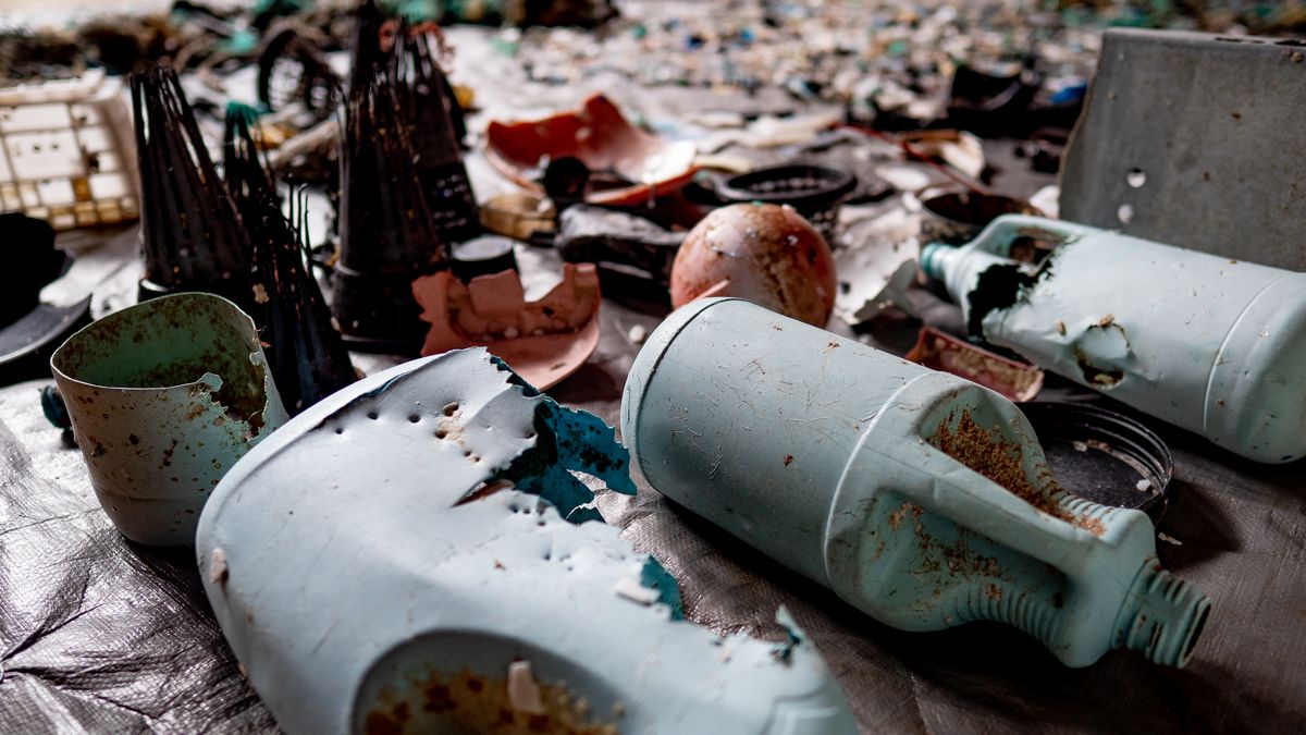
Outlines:
[[[1247,459],[1306,455],[1303,273],[1020,216],[921,267],[976,336]]]

